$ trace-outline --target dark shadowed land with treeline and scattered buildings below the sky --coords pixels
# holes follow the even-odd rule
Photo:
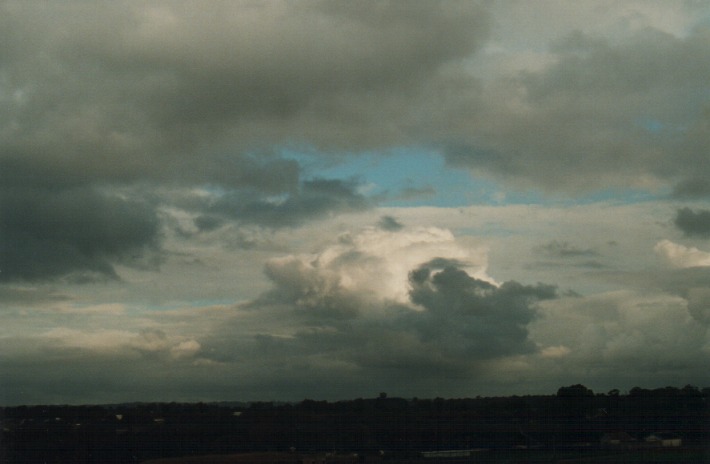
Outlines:
[[[17,406],[2,409],[1,462],[697,463],[710,457],[709,401],[710,388],[578,384],[539,396]]]

